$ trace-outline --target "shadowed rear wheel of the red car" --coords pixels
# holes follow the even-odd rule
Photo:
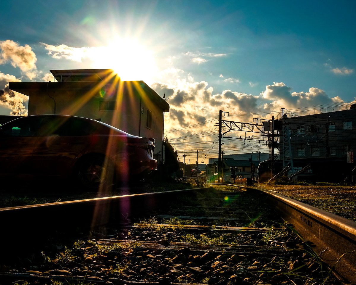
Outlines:
[[[95,155],[83,158],[78,165],[79,184],[85,189],[106,188],[113,182],[113,168],[104,156]]]

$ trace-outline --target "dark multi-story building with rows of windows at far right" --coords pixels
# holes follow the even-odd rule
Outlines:
[[[355,180],[356,105],[303,116],[284,114],[279,125],[282,125],[280,157],[283,168],[289,167],[288,177],[334,182]]]

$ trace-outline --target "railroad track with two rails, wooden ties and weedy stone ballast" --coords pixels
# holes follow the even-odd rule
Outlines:
[[[354,250],[353,222],[346,234],[341,226],[346,219],[331,226],[330,215],[320,215],[315,208],[308,211],[308,206],[286,197],[245,187],[231,189],[231,185],[229,189],[199,188],[0,209],[7,233],[0,237],[1,244],[7,245],[0,257],[0,284],[16,280],[41,285],[66,284],[66,280],[73,284],[80,280],[88,284],[355,281],[352,254],[337,261]],[[325,228],[334,235],[328,236],[334,240],[339,236],[342,253],[340,246],[330,247],[320,235],[326,220]],[[299,234],[312,241],[313,247]],[[321,258],[316,254],[320,252]],[[335,263],[330,271],[328,264],[333,267]]]

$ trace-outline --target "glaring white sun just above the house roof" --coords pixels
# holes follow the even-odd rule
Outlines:
[[[93,68],[113,69],[121,80],[152,82],[157,68],[153,52],[135,38],[115,38],[90,55]]]

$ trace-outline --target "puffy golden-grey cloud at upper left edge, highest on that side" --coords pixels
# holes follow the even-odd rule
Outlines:
[[[0,41],[0,64],[10,63],[20,70],[29,79],[36,76],[36,55],[29,45],[20,46],[18,43],[7,39]]]

